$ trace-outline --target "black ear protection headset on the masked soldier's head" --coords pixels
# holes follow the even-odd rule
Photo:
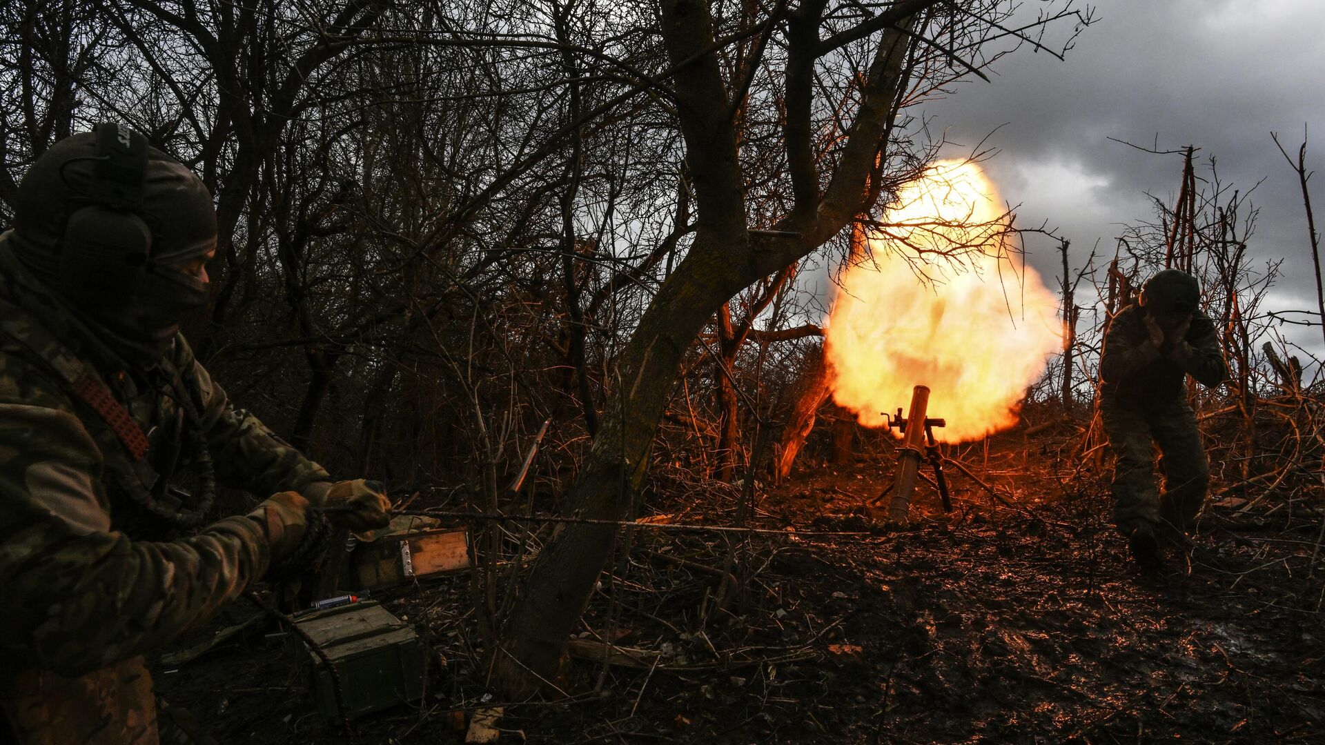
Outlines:
[[[143,281],[152,232],[142,219],[147,138],[101,123],[93,180],[81,207],[65,220],[60,280],[66,297],[86,305],[117,304]]]

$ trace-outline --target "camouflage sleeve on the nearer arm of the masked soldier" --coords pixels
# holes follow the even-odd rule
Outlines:
[[[82,675],[205,623],[262,575],[262,528],[231,517],[171,542],[110,528],[101,453],[56,388],[0,382],[0,650]],[[21,363],[19,363],[21,365]],[[21,395],[16,395],[16,392]]]

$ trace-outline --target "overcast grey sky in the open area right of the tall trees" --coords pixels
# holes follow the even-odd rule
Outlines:
[[[1039,7],[1026,0],[1028,9]],[[1083,261],[1098,240],[1109,256],[1121,224],[1153,219],[1146,192],[1171,203],[1186,144],[1218,158],[1219,175],[1252,194],[1260,220],[1248,252],[1257,264],[1287,257],[1268,309],[1316,305],[1306,219],[1295,172],[1269,138],[1291,152],[1308,130],[1308,167],[1325,172],[1325,0],[1105,0],[1098,21],[1067,61],[1022,50],[990,78],[959,85],[924,106],[931,127],[965,154],[994,133],[984,164],[1003,199],[1020,204],[1023,227],[1048,221]],[[1002,127],[1000,127],[1002,125]],[[995,131],[996,130],[996,131]],[[1208,175],[1202,159],[1198,175]],[[1325,176],[1312,179],[1317,225],[1325,223]],[[1052,244],[1031,244],[1031,262],[1052,281]],[[1291,338],[1321,349],[1317,329]]]

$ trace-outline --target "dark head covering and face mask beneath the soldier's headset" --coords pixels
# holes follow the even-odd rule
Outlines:
[[[93,194],[95,152],[95,134],[82,133],[57,142],[32,164],[19,184],[15,255],[126,362],[148,370],[170,349],[180,322],[207,304],[207,282],[179,265],[216,248],[216,209],[192,171],[148,147],[136,211],[151,229],[143,280],[111,301],[78,297],[61,281],[60,255],[65,221]]]

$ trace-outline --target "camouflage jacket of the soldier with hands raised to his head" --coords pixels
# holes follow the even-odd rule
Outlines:
[[[1129,305],[1109,322],[1100,354],[1100,394],[1104,406],[1141,408],[1186,396],[1187,375],[1214,387],[1224,379],[1224,357],[1215,323],[1196,310],[1173,358],[1146,343],[1145,310]]]

